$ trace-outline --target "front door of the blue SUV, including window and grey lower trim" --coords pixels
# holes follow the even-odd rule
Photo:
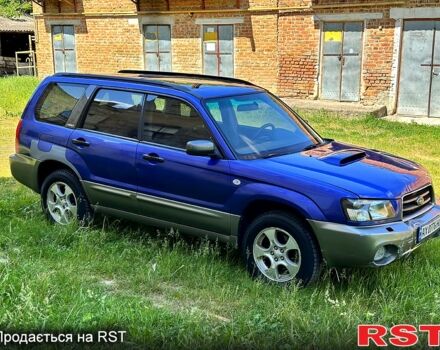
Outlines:
[[[227,202],[234,190],[229,161],[188,155],[186,143],[201,139],[211,139],[211,134],[191,106],[175,98],[148,96],[136,154],[138,210],[229,235]]]

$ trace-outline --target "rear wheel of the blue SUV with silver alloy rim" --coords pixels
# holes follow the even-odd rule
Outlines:
[[[68,170],[56,170],[44,179],[41,205],[52,223],[87,225],[92,220],[93,211],[81,183]]]

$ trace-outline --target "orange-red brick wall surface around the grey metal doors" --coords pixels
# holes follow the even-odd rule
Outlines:
[[[144,67],[142,21],[153,23],[154,16],[172,22],[172,67],[175,71],[203,72],[201,26],[198,19],[240,17],[235,24],[235,76],[249,79],[283,96],[318,98],[320,84],[321,22],[313,15],[382,13],[383,19],[364,21],[364,47],[361,71],[361,99],[364,104],[392,102],[396,85],[396,22],[389,18],[389,6],[370,6],[371,0],[142,0],[140,13],[131,0],[77,0],[79,15],[72,2],[47,1],[46,14],[37,16],[38,68],[40,75],[53,73],[50,25],[75,21],[77,65],[81,72],[115,72],[122,68]],[[199,13],[222,9],[230,12]],[[334,4],[340,4],[333,7]],[[354,4],[359,6],[352,7]],[[369,5],[370,4],[370,5]],[[270,10],[289,7],[285,11]],[[311,8],[309,6],[312,6]],[[438,1],[408,0],[405,6],[440,6]],[[255,9],[263,8],[264,11]],[[195,11],[190,14],[190,11]],[[155,12],[156,11],[156,12]],[[181,11],[181,12],[179,12]],[[185,12],[188,11],[188,12]],[[34,12],[41,8],[34,4]],[[130,13],[121,14],[120,12]],[[64,13],[64,14],[63,14]],[[83,15],[87,14],[87,15]]]

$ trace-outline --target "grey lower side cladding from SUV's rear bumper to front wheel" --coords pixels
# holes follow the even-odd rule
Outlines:
[[[81,179],[75,166],[67,160],[66,151],[65,147],[53,144],[49,150],[42,151],[38,141],[32,140],[29,149],[30,156],[21,154],[11,156],[12,173],[19,182],[36,192],[39,192],[38,168],[45,161],[62,163]],[[233,245],[237,243],[240,222],[238,215],[95,182],[81,182],[88,199],[97,212],[157,226],[173,226],[185,233]]]

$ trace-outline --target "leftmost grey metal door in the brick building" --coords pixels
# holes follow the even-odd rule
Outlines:
[[[52,43],[55,73],[75,73],[76,52],[74,26],[53,26]]]

